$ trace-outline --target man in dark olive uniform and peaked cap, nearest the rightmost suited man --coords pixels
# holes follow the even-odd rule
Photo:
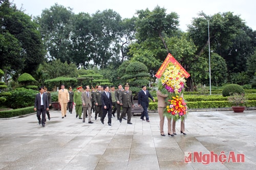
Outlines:
[[[134,107],[133,103],[133,93],[132,91],[129,90],[130,85],[129,83],[124,84],[124,91],[121,91],[120,96],[119,96],[119,103],[123,108],[122,114],[119,118],[119,122],[122,122],[122,118],[124,117],[125,114],[127,113],[127,124],[132,124],[131,123],[131,118],[132,118],[132,107]]]

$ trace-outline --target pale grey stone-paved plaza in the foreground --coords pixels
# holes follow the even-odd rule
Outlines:
[[[114,117],[111,127],[106,120],[82,123],[74,111],[62,119],[60,111],[51,110],[46,127],[38,125],[36,114],[0,119],[0,169],[254,169],[255,112],[189,112],[187,135],[175,137],[160,136],[157,113],[150,113],[150,123],[133,116],[133,125]],[[164,130],[167,134],[166,124]],[[244,154],[245,162],[222,164],[212,157],[208,165],[200,163],[196,153],[207,158],[211,151],[218,158],[222,151],[227,158]],[[190,163],[184,162],[187,152],[193,153]]]

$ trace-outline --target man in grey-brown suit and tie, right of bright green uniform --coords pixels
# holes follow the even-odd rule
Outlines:
[[[81,95],[82,98],[82,107],[83,107],[83,115],[82,115],[82,123],[86,122],[86,113],[89,115],[89,124],[93,124],[92,122],[92,93],[90,92],[90,87],[86,86],[86,91],[84,91]]]

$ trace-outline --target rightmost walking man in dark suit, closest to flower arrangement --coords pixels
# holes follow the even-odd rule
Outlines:
[[[155,99],[150,94],[150,92],[146,89],[146,86],[142,86],[141,88],[142,88],[142,90],[139,91],[139,96],[138,96],[138,106],[141,105],[143,107],[143,112],[142,112],[140,118],[142,120],[145,120],[144,119],[144,116],[145,116],[146,122],[150,122],[150,118],[148,117],[148,113],[147,113],[147,107],[149,104],[148,98],[152,99],[154,102],[155,102]]]

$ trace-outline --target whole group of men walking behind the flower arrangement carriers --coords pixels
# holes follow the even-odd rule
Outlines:
[[[132,117],[132,107],[134,107],[133,94],[129,90],[129,83],[124,84],[124,89],[122,85],[118,85],[118,89],[115,89],[115,86],[100,86],[96,87],[96,90],[90,90],[89,86],[86,86],[83,90],[82,86],[77,87],[75,92],[72,91],[72,87],[69,87],[69,90],[65,89],[64,85],[61,85],[61,89],[58,91],[58,102],[61,106],[61,115],[62,118],[67,116],[67,109],[72,114],[73,105],[75,106],[76,117],[82,119],[82,122],[85,123],[86,117],[88,117],[88,123],[93,124],[92,122],[92,111],[95,110],[95,120],[97,117],[100,117],[101,123],[104,124],[104,119],[106,115],[108,116],[108,125],[112,126],[112,115],[115,117],[115,112],[117,112],[117,119],[119,122],[122,122],[122,119],[127,120],[127,124],[131,123]],[[46,92],[44,93],[46,89]],[[47,94],[48,93],[48,94]],[[143,113],[141,114],[141,119],[146,117],[146,121],[150,122],[147,113],[148,107],[148,98],[151,98],[153,101],[153,96],[146,90],[146,86],[142,86],[142,90],[138,93],[138,105],[143,107]],[[48,119],[50,120],[49,106],[51,104],[51,95],[47,92],[47,87],[40,87],[39,93],[35,98],[34,110],[37,111],[37,119],[39,125],[45,126],[46,122],[46,113]],[[94,108],[95,106],[95,108]],[[114,107],[113,107],[114,106]],[[120,110],[122,107],[122,113],[120,115]],[[83,114],[82,114],[83,112]],[[40,115],[42,114],[42,118]],[[125,118],[127,114],[127,118]]]

